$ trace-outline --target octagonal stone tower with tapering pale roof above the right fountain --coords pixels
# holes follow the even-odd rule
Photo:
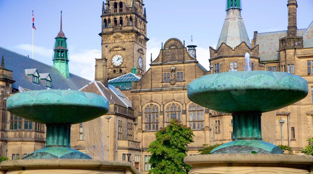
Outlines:
[[[244,71],[245,64],[252,70],[259,70],[259,46],[251,45],[241,17],[241,1],[227,0],[226,18],[216,49],[210,47],[211,74]],[[245,61],[245,53],[250,54],[250,63]]]

